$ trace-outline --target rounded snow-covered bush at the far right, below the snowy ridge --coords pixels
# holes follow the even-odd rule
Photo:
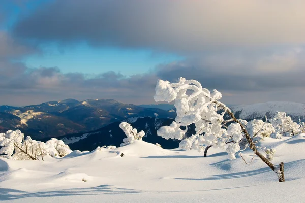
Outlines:
[[[276,112],[276,115],[270,119],[276,131],[271,134],[272,138],[281,139],[282,136],[294,136],[303,131],[303,123],[300,125],[293,122],[290,116],[286,116],[285,112]]]

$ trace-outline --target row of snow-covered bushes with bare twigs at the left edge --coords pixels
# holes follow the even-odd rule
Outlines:
[[[46,143],[32,140],[20,130],[8,130],[6,133],[0,133],[0,154],[8,155],[8,158],[14,160],[43,160],[43,157],[64,157],[72,151],[61,140],[52,138]]]

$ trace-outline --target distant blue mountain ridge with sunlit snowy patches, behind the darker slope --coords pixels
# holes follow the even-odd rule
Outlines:
[[[87,132],[134,116],[174,118],[175,112],[113,99],[65,99],[25,107],[0,106],[0,132],[20,129],[34,138]]]

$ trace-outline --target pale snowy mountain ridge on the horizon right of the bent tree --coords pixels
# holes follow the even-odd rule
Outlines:
[[[252,105],[236,105],[230,108],[235,113],[240,112],[238,117],[241,119],[262,118],[265,115],[272,116],[277,111],[286,112],[292,119],[294,117],[305,118],[305,104],[290,101],[269,101]]]

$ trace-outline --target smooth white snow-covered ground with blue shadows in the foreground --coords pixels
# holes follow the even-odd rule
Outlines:
[[[285,163],[286,182],[257,157],[210,148],[165,150],[144,141],[93,152],[73,151],[62,159],[14,161],[0,158],[4,202],[305,202],[305,134],[265,138],[273,163]],[[124,154],[121,157],[121,154]],[[243,152],[250,160],[251,151]]]

